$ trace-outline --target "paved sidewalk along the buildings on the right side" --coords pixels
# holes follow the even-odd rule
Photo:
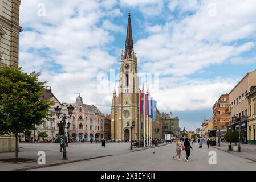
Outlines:
[[[228,151],[227,143],[221,143],[220,147],[218,147],[218,143],[217,146],[210,147],[217,148],[218,150],[228,152],[235,156],[239,156],[240,158],[249,159],[253,162],[256,162],[256,145],[245,144],[242,146],[241,144],[241,152]]]

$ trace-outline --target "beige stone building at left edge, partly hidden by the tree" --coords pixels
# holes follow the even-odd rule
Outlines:
[[[19,5],[21,0],[0,0],[0,69],[7,65],[18,68]],[[15,137],[0,135],[0,152],[14,152]]]

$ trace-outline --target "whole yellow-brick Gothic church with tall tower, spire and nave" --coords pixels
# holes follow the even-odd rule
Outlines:
[[[131,140],[143,141],[144,139],[152,140],[161,138],[162,123],[159,110],[156,109],[155,121],[145,117],[145,114],[140,115],[137,55],[133,49],[130,12],[128,16],[125,51],[121,53],[120,62],[118,95],[116,89],[114,89],[111,106],[111,139],[116,142],[128,142]],[[149,88],[146,94],[150,94]],[[127,126],[127,122],[129,122],[129,126]],[[135,126],[131,132],[132,122],[135,122]]]

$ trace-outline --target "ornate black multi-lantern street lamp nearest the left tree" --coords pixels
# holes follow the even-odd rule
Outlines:
[[[58,119],[62,119],[62,121],[63,121],[63,128],[62,128],[63,129],[63,137],[64,137],[63,159],[67,159],[67,151],[66,151],[66,147],[65,147],[65,132],[64,132],[65,126],[66,126],[66,119],[71,118],[71,116],[73,114],[73,110],[74,110],[74,107],[71,104],[70,104],[70,106],[68,106],[68,105],[66,105],[66,106],[67,106],[67,110],[68,110],[68,115],[66,115],[64,113],[63,116],[60,116],[60,112],[61,112],[62,108],[59,107],[59,105],[54,108],[55,112],[56,112],[56,116],[58,117]],[[70,127],[70,124],[69,124],[68,127]]]

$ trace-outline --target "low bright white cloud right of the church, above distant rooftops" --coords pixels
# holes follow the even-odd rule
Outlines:
[[[161,111],[191,111],[211,109],[221,94],[228,93],[237,78],[190,79],[160,78],[159,92],[153,97]],[[156,93],[156,94],[155,94]]]

